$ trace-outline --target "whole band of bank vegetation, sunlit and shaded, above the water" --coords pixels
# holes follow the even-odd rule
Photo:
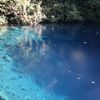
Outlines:
[[[0,0],[0,25],[100,21],[100,0]]]

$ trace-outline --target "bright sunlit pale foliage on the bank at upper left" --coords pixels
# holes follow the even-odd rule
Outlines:
[[[30,0],[2,0],[0,14],[6,16],[8,24],[33,25],[44,17],[41,1],[31,3]]]

